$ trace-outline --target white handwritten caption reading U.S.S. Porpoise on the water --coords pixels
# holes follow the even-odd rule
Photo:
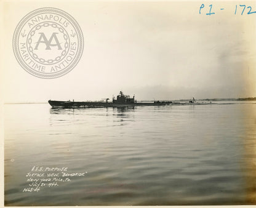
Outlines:
[[[55,187],[61,183],[68,183],[76,177],[84,177],[87,172],[68,172],[68,167],[34,166],[26,173],[28,185],[22,192],[38,192],[44,187]]]

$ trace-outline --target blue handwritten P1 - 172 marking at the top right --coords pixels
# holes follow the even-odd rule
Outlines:
[[[214,15],[215,12],[214,11],[218,11],[218,10],[225,10],[225,8],[217,8],[214,7],[212,4],[209,5],[209,7],[205,6],[204,4],[201,4],[201,6],[199,7],[199,14],[202,14],[202,12],[205,12],[206,15]],[[236,5],[234,6],[234,15],[236,14],[256,14],[256,11],[252,10],[251,6],[248,5]]]

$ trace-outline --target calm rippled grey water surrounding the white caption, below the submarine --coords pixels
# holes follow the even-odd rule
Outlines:
[[[255,204],[256,105],[5,106],[6,206]],[[23,193],[33,166],[87,172]]]

